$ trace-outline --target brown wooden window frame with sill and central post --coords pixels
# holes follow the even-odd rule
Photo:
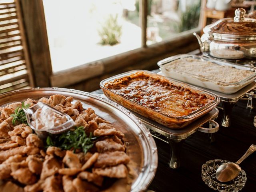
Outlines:
[[[43,2],[42,0],[17,1],[20,2],[23,12],[30,58],[34,69],[34,82],[39,87],[69,87],[96,76],[115,74],[115,71],[122,68],[129,68],[132,64],[136,64],[136,66],[155,65],[157,61],[168,56],[199,48],[197,40],[192,36],[192,33],[200,32],[200,25],[198,28],[182,32],[170,40],[147,46],[147,0],[140,0],[140,23],[142,26],[141,48],[53,73]],[[192,44],[190,44],[191,42]]]

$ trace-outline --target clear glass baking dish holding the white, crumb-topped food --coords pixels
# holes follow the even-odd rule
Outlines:
[[[180,58],[194,58],[198,60],[203,60],[203,61],[210,61],[214,64],[222,65],[222,66],[231,66],[236,69],[240,70],[249,70],[254,72],[251,76],[248,76],[247,78],[241,80],[240,82],[236,83],[226,83],[222,81],[216,81],[212,80],[210,78],[206,78],[204,76],[200,76],[197,74],[191,74],[188,72],[183,72],[180,70],[176,70],[171,68],[171,63],[174,60],[178,60]],[[256,69],[248,66],[243,66],[239,64],[233,64],[229,62],[223,62],[223,61],[218,61],[210,58],[206,58],[204,56],[196,56],[196,55],[190,55],[190,54],[179,54],[176,56],[172,56],[163,60],[160,60],[158,63],[158,66],[160,67],[160,70],[163,72],[164,76],[170,77],[182,82],[186,82],[189,84],[194,84],[196,86],[200,86],[202,88],[207,88],[210,90],[215,90],[218,92],[222,92],[225,94],[232,94],[237,92],[238,90],[242,89],[246,85],[250,84],[253,82],[256,78]]]

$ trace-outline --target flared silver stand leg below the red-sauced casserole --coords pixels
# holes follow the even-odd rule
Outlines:
[[[166,137],[169,145],[170,145],[170,150],[171,150],[171,156],[169,160],[169,167],[172,169],[177,169],[180,167],[180,151],[182,150],[182,144],[184,142],[184,139],[172,139]]]

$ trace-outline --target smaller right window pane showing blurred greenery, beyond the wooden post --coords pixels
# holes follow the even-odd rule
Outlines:
[[[148,0],[147,44],[197,28],[201,0]]]

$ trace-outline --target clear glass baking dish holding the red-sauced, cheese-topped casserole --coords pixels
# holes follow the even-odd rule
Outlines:
[[[113,81],[118,81],[119,79],[121,79],[123,77],[132,76],[136,73],[141,73],[141,72],[146,75],[150,75],[153,78],[159,78],[160,80],[168,80],[169,82],[171,82],[172,84],[174,84],[176,86],[188,88],[189,90],[192,90],[198,94],[202,93],[202,94],[212,96],[214,98],[214,100],[212,102],[206,104],[205,106],[199,108],[198,110],[188,114],[187,116],[170,117],[170,116],[161,114],[160,112],[157,112],[151,108],[148,108],[146,106],[143,106],[141,104],[133,102],[132,100],[129,100],[129,99],[125,98],[124,96],[121,96],[120,94],[113,92],[112,90],[106,88],[106,86],[105,86],[107,83],[110,83]],[[102,82],[100,82],[100,87],[102,88],[102,91],[105,94],[105,96],[110,98],[110,100],[112,100],[118,104],[121,104],[122,106],[128,108],[129,110],[132,110],[146,118],[152,119],[152,120],[158,122],[159,124],[162,124],[168,128],[172,128],[172,129],[180,129],[180,128],[185,127],[186,125],[190,124],[191,122],[193,122],[200,116],[203,116],[204,114],[210,112],[210,110],[212,110],[220,102],[220,98],[211,92],[196,88],[194,86],[190,86],[190,85],[185,84],[180,81],[166,78],[164,76],[161,76],[161,75],[158,75],[156,73],[146,71],[146,70],[133,70],[130,72],[125,72],[125,73],[107,78],[105,80],[102,80]]]

